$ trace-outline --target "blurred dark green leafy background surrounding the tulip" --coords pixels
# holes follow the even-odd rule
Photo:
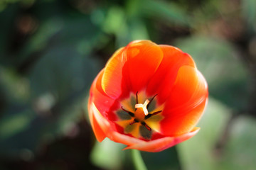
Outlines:
[[[198,135],[142,152],[148,169],[255,169],[255,0],[0,0],[0,169],[133,169],[95,140],[87,96],[137,39],[191,54],[210,92]]]

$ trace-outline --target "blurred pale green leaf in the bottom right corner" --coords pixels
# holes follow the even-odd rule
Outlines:
[[[255,169],[256,120],[240,117],[234,121],[230,131],[224,153],[218,159],[218,169]]]

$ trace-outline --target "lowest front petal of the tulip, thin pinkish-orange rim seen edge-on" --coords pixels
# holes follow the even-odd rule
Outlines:
[[[151,140],[149,142],[143,141],[135,145],[130,145],[124,149],[138,149],[146,152],[160,152],[169,147],[173,147],[174,145],[177,145],[180,142],[188,140],[189,138],[196,135],[196,133],[199,130],[200,128],[193,128],[191,132],[188,132],[186,134],[183,134],[177,137],[163,137],[158,140]]]

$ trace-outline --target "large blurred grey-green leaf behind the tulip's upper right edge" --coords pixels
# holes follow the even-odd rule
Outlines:
[[[230,43],[203,36],[181,39],[176,46],[188,52],[206,77],[209,93],[231,108],[245,109],[249,75]]]

